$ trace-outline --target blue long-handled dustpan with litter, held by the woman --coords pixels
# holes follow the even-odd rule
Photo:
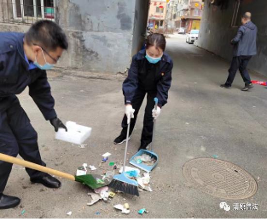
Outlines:
[[[155,97],[154,101],[155,101],[155,109],[157,110],[157,102],[158,102],[157,97]],[[153,125],[151,150],[141,149],[130,159],[130,164],[132,164],[132,165],[134,165],[134,166],[136,166],[136,167],[140,168],[141,170],[144,170],[148,173],[151,172],[157,166],[157,163],[158,163],[158,156],[152,150],[152,146],[153,146],[153,142],[154,142],[155,128],[156,128],[156,119],[154,119],[154,125]],[[148,154],[152,159],[154,158],[156,160],[156,162],[153,165],[149,166],[143,162],[138,163],[137,161],[135,161],[135,158],[137,156],[141,156],[142,154]]]

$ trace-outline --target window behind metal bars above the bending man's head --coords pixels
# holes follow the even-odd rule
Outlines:
[[[15,19],[54,19],[54,0],[12,0],[12,4]]]

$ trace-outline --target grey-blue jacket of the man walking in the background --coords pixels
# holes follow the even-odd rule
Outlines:
[[[242,25],[232,40],[234,44],[234,57],[254,56],[257,54],[257,27],[251,21]]]

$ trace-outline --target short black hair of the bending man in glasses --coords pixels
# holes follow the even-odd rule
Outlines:
[[[53,21],[41,20],[34,23],[25,34],[27,44],[38,44],[48,51],[55,51],[57,47],[68,48],[68,41],[63,29]]]

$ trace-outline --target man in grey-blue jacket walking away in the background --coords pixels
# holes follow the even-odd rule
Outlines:
[[[253,87],[247,66],[251,57],[257,54],[257,27],[251,22],[250,12],[246,12],[242,16],[241,23],[242,26],[238,29],[236,37],[231,41],[231,44],[234,45],[234,54],[231,67],[228,70],[229,75],[225,84],[220,85],[220,87],[231,88],[236,72],[239,69],[245,82],[245,87],[241,90],[247,91]]]

